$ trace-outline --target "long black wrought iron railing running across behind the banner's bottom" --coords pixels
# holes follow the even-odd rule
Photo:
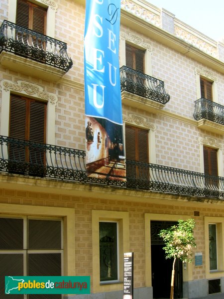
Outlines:
[[[126,179],[87,177],[85,151],[0,136],[0,171],[224,199],[224,177],[126,160]]]

